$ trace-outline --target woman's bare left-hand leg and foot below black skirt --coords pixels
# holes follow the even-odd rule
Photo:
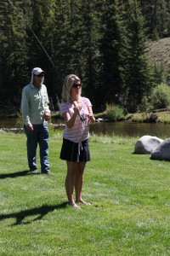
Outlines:
[[[77,163],[66,161],[67,163],[67,175],[65,178],[65,190],[68,197],[68,202],[72,207],[78,207],[73,199],[73,191],[75,186],[75,178],[77,173]]]

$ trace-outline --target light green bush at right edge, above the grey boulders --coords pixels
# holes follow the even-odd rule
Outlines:
[[[161,83],[151,92],[150,103],[153,108],[168,108],[170,106],[170,87]]]

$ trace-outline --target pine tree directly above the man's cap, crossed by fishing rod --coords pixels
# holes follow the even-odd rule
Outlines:
[[[26,9],[27,34],[29,41],[27,46],[31,53],[27,62],[29,69],[42,67],[46,72],[45,84],[48,94],[53,95],[54,82],[54,0],[37,0],[37,4],[31,0]]]

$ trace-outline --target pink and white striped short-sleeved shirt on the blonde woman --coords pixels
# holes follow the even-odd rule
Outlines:
[[[82,97],[82,108],[80,109],[80,114],[83,114],[86,117],[85,121],[81,121],[79,115],[75,120],[75,124],[72,128],[68,128],[65,125],[65,131],[63,133],[63,137],[65,139],[70,140],[73,143],[81,143],[82,141],[88,139],[89,137],[89,119],[88,119],[88,107],[91,107],[92,103],[88,100],[88,98]],[[72,116],[74,113],[74,106],[69,102],[61,102],[60,104],[60,112],[70,113]]]

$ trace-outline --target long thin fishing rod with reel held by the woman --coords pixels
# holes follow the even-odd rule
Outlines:
[[[31,26],[28,25],[28,22],[26,21],[26,19],[23,17],[23,15],[20,14],[19,10],[14,6],[14,4],[8,0],[8,3],[10,3],[12,5],[12,7],[14,8],[14,10],[16,11],[16,13],[20,16],[20,18],[25,22],[26,26],[30,29],[30,31],[32,32],[33,36],[37,39],[37,42],[40,44],[40,46],[42,47],[42,50],[45,52],[45,54],[48,56],[48,60],[51,62],[52,66],[54,67],[54,69],[56,69],[54,62],[52,61],[51,57],[48,55],[47,50],[43,47],[41,41],[39,40],[39,38],[37,38],[37,35],[35,32],[33,32],[33,30],[31,29]],[[70,91],[67,89],[66,85],[65,88],[69,94],[69,96],[71,97]],[[71,101],[73,102],[74,106],[76,107],[76,104],[74,103],[74,101],[72,100],[71,97]],[[86,120],[85,116],[83,114],[80,114],[80,112],[78,112],[78,115],[81,119],[82,122],[84,122]]]

